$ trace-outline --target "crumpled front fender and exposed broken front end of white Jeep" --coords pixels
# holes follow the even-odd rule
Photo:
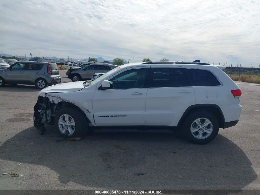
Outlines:
[[[60,102],[63,102],[63,104],[59,105]],[[58,94],[49,93],[46,94],[45,97],[38,96],[37,103],[34,106],[34,127],[40,130],[42,135],[46,130],[44,125],[50,124],[52,119],[54,119],[57,106],[59,105],[59,107],[63,107],[65,106],[64,103],[73,104],[80,108],[83,112],[90,113],[89,109],[81,108],[79,105],[72,103],[69,100],[65,100]]]

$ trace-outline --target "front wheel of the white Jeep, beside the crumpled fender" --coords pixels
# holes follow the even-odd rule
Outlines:
[[[78,109],[67,106],[59,109],[55,116],[55,126],[68,137],[81,137],[88,129],[86,118]]]

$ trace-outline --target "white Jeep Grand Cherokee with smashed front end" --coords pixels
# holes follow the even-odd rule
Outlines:
[[[96,80],[42,89],[34,126],[54,124],[68,137],[90,127],[158,127],[182,130],[206,144],[219,128],[237,124],[241,90],[220,67],[190,62],[144,62],[117,67]]]

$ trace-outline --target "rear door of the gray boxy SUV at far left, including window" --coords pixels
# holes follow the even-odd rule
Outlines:
[[[34,84],[35,80],[40,75],[40,70],[42,69],[42,67],[43,64],[26,63],[23,71],[24,83]]]

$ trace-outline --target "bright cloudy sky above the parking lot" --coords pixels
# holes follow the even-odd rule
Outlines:
[[[0,51],[260,63],[260,1],[1,0]]]

